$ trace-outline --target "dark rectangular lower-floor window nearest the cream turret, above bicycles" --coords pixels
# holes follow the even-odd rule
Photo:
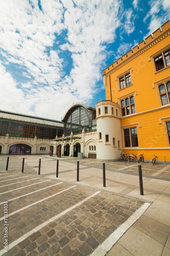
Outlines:
[[[128,128],[124,130],[125,147],[138,146],[137,128]]]

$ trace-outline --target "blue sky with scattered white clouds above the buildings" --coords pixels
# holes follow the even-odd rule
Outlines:
[[[169,17],[169,0],[1,0],[0,109],[61,121],[95,108],[103,70]]]

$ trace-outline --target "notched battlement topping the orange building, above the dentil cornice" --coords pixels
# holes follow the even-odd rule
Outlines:
[[[152,44],[156,39],[161,37],[168,30],[170,30],[169,20],[161,26],[161,29],[158,28],[155,32],[152,33],[152,35],[149,35],[147,38],[145,38],[145,40],[139,42],[139,44],[136,45],[135,47],[133,47],[129,52],[124,54],[122,57],[120,57],[119,59],[114,61],[113,64],[111,64],[109,67],[104,69],[103,70],[103,75],[107,74],[108,72],[110,72],[114,68],[118,67],[121,63],[128,60],[130,57],[132,57],[137,52],[141,51],[143,48],[146,48],[147,46]]]

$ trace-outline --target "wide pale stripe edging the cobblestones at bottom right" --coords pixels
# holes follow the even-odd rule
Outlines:
[[[123,236],[123,234],[139,219],[143,212],[150,206],[150,203],[144,203],[134,214],[120,225],[110,236],[98,246],[90,256],[105,256],[113,245]]]

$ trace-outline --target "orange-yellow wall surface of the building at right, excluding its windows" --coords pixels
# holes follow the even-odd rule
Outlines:
[[[170,105],[161,105],[158,92],[158,81],[170,81],[170,66],[155,72],[153,55],[167,47],[170,48],[169,21],[160,30],[149,36],[138,47],[124,55],[105,70],[106,74],[106,100],[112,97],[113,102],[120,104],[120,100],[126,95],[134,95],[136,113],[122,117],[120,120],[122,129],[123,151],[126,153],[144,153],[145,159],[170,161],[170,147],[166,131],[165,121],[170,121]],[[169,49],[168,48],[168,49]],[[160,52],[161,53],[161,52]],[[132,84],[119,90],[117,77],[130,71]],[[109,77],[110,76],[110,77]],[[111,95],[110,95],[111,84]],[[138,147],[125,147],[124,131],[128,127],[137,127]]]

